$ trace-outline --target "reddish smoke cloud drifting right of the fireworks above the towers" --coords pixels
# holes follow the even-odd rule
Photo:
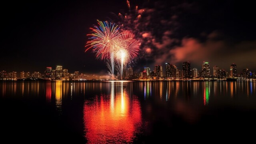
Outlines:
[[[217,12],[211,2],[204,6],[209,10],[196,2],[146,2],[144,8],[119,16],[118,24],[122,29],[132,31],[141,43],[133,66],[154,69],[154,65],[163,66],[168,62],[181,67],[182,62],[190,61],[192,67],[200,69],[202,62],[208,61],[211,67],[217,65],[226,70],[232,63],[238,65],[238,71],[248,67],[256,70],[256,66],[248,64],[256,55],[256,42],[234,41],[230,33],[218,29],[219,25],[230,29],[227,22],[219,24],[216,21],[228,17],[231,12],[223,14],[224,8]]]

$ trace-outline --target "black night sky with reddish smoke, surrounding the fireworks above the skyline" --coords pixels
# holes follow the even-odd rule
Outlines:
[[[130,0],[131,9],[145,10],[140,22],[130,25],[140,40],[140,53],[132,66],[165,62],[181,68],[190,61],[202,68],[208,61],[229,72],[232,63],[256,71],[254,6],[232,0],[180,1]],[[62,65],[69,72],[106,73],[104,61],[85,53],[86,34],[96,20],[118,22],[129,11],[126,0],[35,1],[2,4],[0,70],[40,71]],[[134,18],[133,18],[134,17]],[[127,28],[129,29],[129,28]]]

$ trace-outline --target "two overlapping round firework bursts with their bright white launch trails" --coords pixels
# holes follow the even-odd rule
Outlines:
[[[107,67],[114,75],[114,67],[122,79],[123,67],[138,55],[139,42],[129,31],[119,30],[120,27],[111,22],[98,20],[99,26],[91,28],[90,41],[86,43],[86,49],[92,49],[96,58],[106,60]]]

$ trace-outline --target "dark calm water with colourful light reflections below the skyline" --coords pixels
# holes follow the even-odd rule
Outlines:
[[[0,116],[9,142],[247,140],[256,82],[0,82]]]

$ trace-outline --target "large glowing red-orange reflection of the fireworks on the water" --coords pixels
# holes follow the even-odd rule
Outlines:
[[[84,102],[88,143],[131,143],[140,130],[141,121],[140,102],[137,98],[130,99],[123,82],[111,82],[109,95],[101,94],[93,101]]]

